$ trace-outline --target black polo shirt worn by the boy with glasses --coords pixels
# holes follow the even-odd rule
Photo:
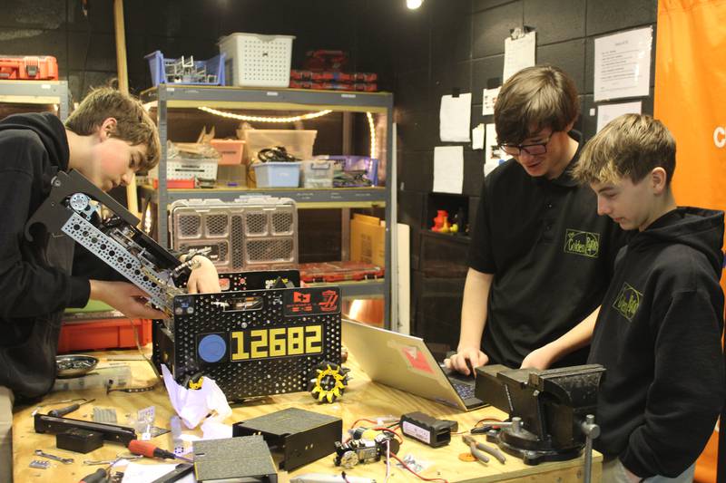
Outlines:
[[[580,140],[575,131],[570,136]],[[486,176],[469,266],[494,274],[482,339],[491,363],[519,367],[602,302],[625,240],[609,217],[597,215],[593,190],[571,178],[579,154],[557,179],[531,177],[515,159]],[[555,365],[584,363],[587,351]]]

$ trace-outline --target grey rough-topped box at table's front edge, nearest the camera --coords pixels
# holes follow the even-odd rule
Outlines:
[[[197,481],[278,481],[275,462],[261,436],[194,441],[192,449]]]

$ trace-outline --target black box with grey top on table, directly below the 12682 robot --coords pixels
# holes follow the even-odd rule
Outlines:
[[[335,451],[343,420],[318,412],[289,408],[234,423],[233,436],[260,434],[273,453],[282,456],[280,469],[291,471]]]

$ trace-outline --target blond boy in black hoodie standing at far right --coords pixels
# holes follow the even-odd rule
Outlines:
[[[692,481],[726,391],[721,350],[723,212],[679,208],[675,141],[626,114],[584,147],[574,177],[597,209],[633,230],[594,328],[588,362],[606,368],[595,440],[603,482]]]

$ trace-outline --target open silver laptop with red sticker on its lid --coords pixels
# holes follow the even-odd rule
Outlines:
[[[345,319],[342,337],[371,381],[463,411],[484,406],[474,396],[474,378],[443,368],[423,339]]]

